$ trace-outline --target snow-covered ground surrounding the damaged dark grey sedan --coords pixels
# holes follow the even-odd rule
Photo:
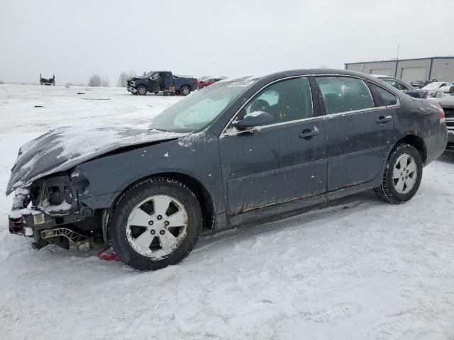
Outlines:
[[[62,125],[143,125],[179,98],[0,85],[0,191],[31,138]],[[11,203],[0,196],[0,339],[454,339],[449,153],[424,169],[409,203],[361,193],[205,237],[150,273],[95,251],[32,250],[9,234]]]

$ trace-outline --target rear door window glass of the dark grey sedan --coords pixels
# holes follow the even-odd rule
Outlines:
[[[343,113],[374,107],[374,100],[364,81],[350,77],[317,77],[326,113]]]

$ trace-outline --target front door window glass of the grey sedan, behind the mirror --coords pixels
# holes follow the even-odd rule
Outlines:
[[[238,115],[263,111],[270,113],[274,123],[311,118],[314,116],[311,86],[306,77],[279,81],[260,91]]]

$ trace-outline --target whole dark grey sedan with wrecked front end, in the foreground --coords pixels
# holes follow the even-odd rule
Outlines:
[[[184,259],[202,230],[371,188],[404,203],[447,140],[435,101],[366,74],[228,79],[170,106],[149,130],[60,128],[23,145],[6,188],[16,193],[9,229],[37,249],[87,249],[95,235],[128,266],[162,268]]]

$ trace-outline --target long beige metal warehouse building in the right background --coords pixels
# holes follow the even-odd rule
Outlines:
[[[366,74],[382,74],[407,82],[414,80],[454,81],[454,57],[352,62],[345,69]]]

